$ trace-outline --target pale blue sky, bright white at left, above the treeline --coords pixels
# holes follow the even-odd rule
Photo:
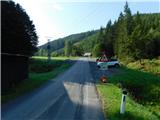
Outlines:
[[[38,45],[65,36],[105,27],[118,19],[125,0],[13,0],[30,16]],[[98,2],[97,2],[98,1]],[[132,14],[160,13],[160,0],[128,0]]]

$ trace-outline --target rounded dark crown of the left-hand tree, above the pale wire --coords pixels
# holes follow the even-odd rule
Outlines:
[[[38,37],[25,10],[13,1],[1,1],[1,10],[2,53],[33,55]]]

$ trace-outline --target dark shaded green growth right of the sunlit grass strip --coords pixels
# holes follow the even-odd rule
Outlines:
[[[135,101],[160,117],[160,77],[124,67],[121,70],[122,74],[109,77],[109,82],[126,88]]]

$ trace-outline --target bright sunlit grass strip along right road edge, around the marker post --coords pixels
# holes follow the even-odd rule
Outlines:
[[[159,120],[159,118],[145,107],[135,102],[132,97],[127,96],[126,112],[121,115],[121,89],[114,84],[98,84],[98,92],[102,98],[103,109],[109,120]]]

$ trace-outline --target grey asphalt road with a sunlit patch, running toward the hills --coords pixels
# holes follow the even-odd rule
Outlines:
[[[2,106],[2,120],[104,120],[87,58],[47,85]]]

